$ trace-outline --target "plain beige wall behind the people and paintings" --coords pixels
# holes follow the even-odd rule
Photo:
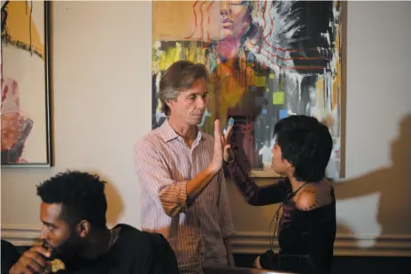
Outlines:
[[[348,4],[340,255],[411,255],[410,11],[409,2]],[[56,166],[2,169],[2,237],[16,244],[38,234],[35,185],[66,169],[109,180],[111,225],[140,224],[132,155],[151,130],[151,3],[58,1],[53,18]],[[236,251],[266,250],[275,206],[252,208],[228,184]]]

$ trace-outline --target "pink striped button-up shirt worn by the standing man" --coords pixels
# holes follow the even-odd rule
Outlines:
[[[223,239],[234,234],[222,170],[191,204],[187,182],[213,159],[213,137],[201,133],[188,147],[166,120],[136,143],[142,187],[142,230],[162,233],[174,249],[181,273],[205,266],[227,267]]]

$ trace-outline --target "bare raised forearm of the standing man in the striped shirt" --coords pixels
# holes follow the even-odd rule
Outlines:
[[[204,171],[198,173],[198,175],[187,182],[187,199],[193,202],[199,194],[210,184],[215,175],[220,170],[215,168],[213,164],[209,164]]]

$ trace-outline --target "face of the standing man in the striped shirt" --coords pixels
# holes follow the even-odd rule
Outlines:
[[[206,110],[207,95],[206,80],[195,80],[190,89],[179,92],[177,99],[167,101],[170,118],[181,121],[184,126],[197,126]]]

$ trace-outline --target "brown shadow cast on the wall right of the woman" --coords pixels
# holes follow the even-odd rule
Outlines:
[[[334,185],[337,222],[338,228],[341,228],[338,233],[351,231],[359,236],[369,234],[370,218],[375,218],[376,225],[380,226],[375,235],[406,235],[411,232],[411,174],[408,171],[411,166],[411,115],[399,124],[399,137],[392,141],[391,157],[391,166]],[[353,214],[348,216],[353,213],[353,210],[347,209],[351,205],[357,213],[356,217]],[[338,207],[345,209],[338,210]],[[346,212],[346,216],[341,216],[338,211]],[[364,213],[361,214],[361,211]]]

